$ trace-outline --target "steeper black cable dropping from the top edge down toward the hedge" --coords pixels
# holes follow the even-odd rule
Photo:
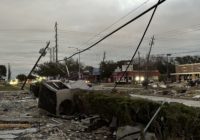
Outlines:
[[[140,45],[141,45],[141,43],[142,43],[142,41],[143,41],[143,39],[144,39],[144,36],[146,35],[146,32],[147,32],[147,30],[148,30],[150,24],[151,24],[151,21],[152,21],[152,19],[153,19],[153,17],[154,17],[154,14],[155,14],[155,12],[156,12],[156,9],[157,9],[159,3],[160,3],[160,0],[158,0],[157,5],[154,7],[153,13],[152,13],[152,15],[151,15],[151,17],[150,17],[150,19],[149,19],[149,22],[148,22],[148,24],[147,24],[147,26],[146,26],[146,29],[145,29],[145,31],[144,31],[144,33],[143,33],[143,35],[142,35],[142,38],[140,39],[140,42],[139,42],[139,44],[138,44],[138,46],[137,46],[137,48],[136,48],[136,50],[135,50],[135,52],[134,52],[134,54],[133,54],[131,60],[129,61],[129,63],[128,63],[127,67],[126,67],[126,70],[123,72],[122,76],[120,77],[119,82],[120,82],[120,81],[122,80],[122,78],[125,76],[125,74],[126,74],[128,68],[129,68],[131,62],[133,61],[133,59],[134,59],[134,57],[135,57],[135,55],[136,55],[138,49],[140,48]],[[117,83],[115,83],[115,86],[114,86],[113,89],[115,89],[116,87],[117,87]]]

